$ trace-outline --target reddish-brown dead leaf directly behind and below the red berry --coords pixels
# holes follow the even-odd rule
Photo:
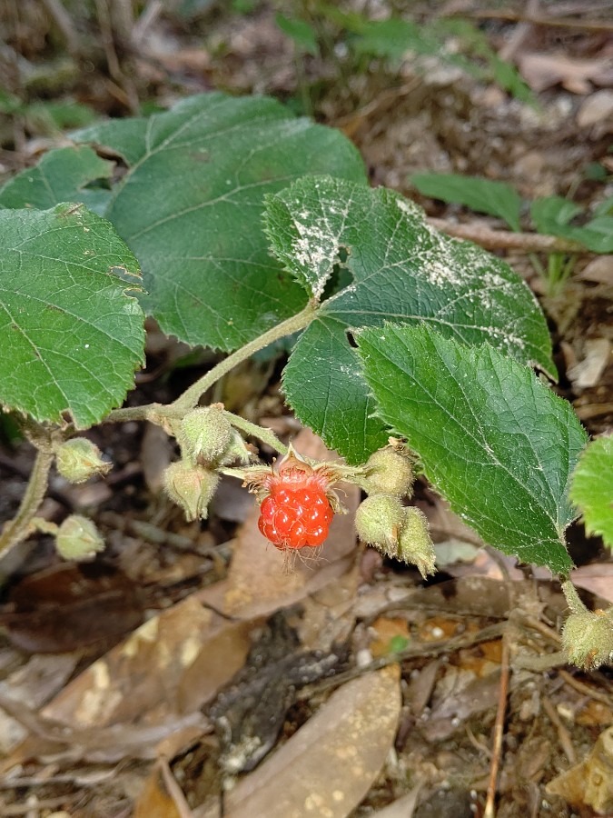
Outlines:
[[[306,457],[331,459],[321,439],[308,429],[302,430],[293,444]],[[260,534],[260,511],[254,504],[236,538],[227,579],[205,588],[200,599],[227,615],[252,619],[299,602],[345,574],[355,552],[353,514],[360,490],[355,485],[343,484],[341,497],[348,514],[335,515],[321,556],[306,562],[307,557],[305,561],[300,559],[302,553],[295,554],[293,564],[287,564],[286,555]]]

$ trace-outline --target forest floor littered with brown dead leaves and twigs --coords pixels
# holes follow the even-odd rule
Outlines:
[[[51,101],[128,115],[139,100],[150,110],[221,88],[310,106],[355,141],[373,184],[416,198],[450,231],[503,225],[420,198],[411,173],[484,175],[528,199],[572,194],[589,206],[612,193],[611,111],[596,97],[611,84],[611,28],[598,24],[611,9],[561,6],[535,6],[539,25],[521,10],[475,17],[523,66],[535,110],[440,55],[351,63],[322,37],[321,57],[297,60],[266,5],[182,17],[152,4],[134,31],[119,3],[69,25],[57,9],[25,3],[4,13],[5,86],[21,103],[5,104],[13,114],[0,133],[2,163],[11,172],[57,144]],[[411,8],[430,20],[428,5]],[[556,25],[578,14],[579,25]],[[549,56],[547,67],[534,55]],[[64,124],[83,114],[73,106]],[[527,253],[507,252],[504,240],[498,252],[542,299],[560,392],[590,433],[610,430],[611,257],[579,257],[552,297]],[[172,399],[210,363],[176,369],[184,352],[151,327],[137,378],[146,399]],[[295,437],[280,370],[242,367],[214,399]],[[440,542],[441,572],[429,584],[359,548],[351,514],[335,521],[319,563],[287,572],[262,548],[256,510],[237,485],[223,482],[209,524],[185,524],[159,491],[173,457],[165,436],[124,424],[92,438],[114,471],[83,486],[55,478],[44,515],[90,514],[107,551],[67,565],[41,538],[0,564],[0,813],[460,818],[483,814],[499,762],[500,818],[613,814],[610,740],[598,743],[613,724],[613,676],[563,664],[565,602],[546,572],[480,549],[425,485],[418,502]],[[310,433],[298,440],[304,454],[324,456]],[[25,445],[5,441],[3,520],[30,463]],[[351,487],[344,502],[350,511],[359,502]],[[586,601],[613,603],[608,554],[579,525],[569,540]],[[575,778],[551,784],[586,759]]]

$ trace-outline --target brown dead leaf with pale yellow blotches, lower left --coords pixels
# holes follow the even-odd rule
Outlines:
[[[42,714],[83,730],[192,713],[242,667],[248,631],[190,596],[94,662]]]

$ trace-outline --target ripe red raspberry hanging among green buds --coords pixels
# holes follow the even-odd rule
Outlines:
[[[260,506],[262,534],[282,551],[321,545],[334,516],[330,483],[329,474],[313,469],[291,451],[277,472],[262,481],[268,493]]]

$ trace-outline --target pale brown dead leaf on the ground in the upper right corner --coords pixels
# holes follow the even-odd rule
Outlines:
[[[589,94],[592,83],[613,82],[613,61],[608,57],[577,60],[563,54],[526,53],[518,56],[519,70],[537,93],[562,85],[571,94]]]

